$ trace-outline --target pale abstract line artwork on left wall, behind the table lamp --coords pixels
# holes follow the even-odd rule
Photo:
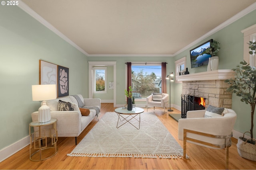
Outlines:
[[[39,84],[57,84],[56,64],[39,60]]]

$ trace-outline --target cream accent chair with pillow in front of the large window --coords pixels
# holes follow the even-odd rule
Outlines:
[[[148,106],[154,106],[154,109],[155,107],[164,108],[164,112],[165,112],[165,107],[168,106],[168,102],[169,102],[169,94],[162,93],[162,98],[160,100],[161,100],[160,102],[153,101],[153,95],[151,94],[150,96],[148,96],[146,98],[147,111],[148,111]]]

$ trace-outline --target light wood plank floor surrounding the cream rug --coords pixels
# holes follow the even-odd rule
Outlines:
[[[183,141],[178,140],[178,122],[172,119],[169,113],[180,113],[180,111],[163,113],[162,108],[155,110],[158,118],[170,131],[172,136],[182,146]],[[107,112],[114,111],[113,104],[102,104],[100,118]],[[146,109],[145,109],[146,111]],[[78,143],[97,123],[94,119],[78,137]],[[229,152],[230,169],[256,169],[256,162],[241,158],[237,152],[236,139],[232,139]],[[32,162],[29,159],[29,147],[25,147],[16,154],[10,156],[0,163],[0,169],[224,169],[225,151],[208,149],[198,145],[187,143],[187,154],[189,159],[160,159],[160,158],[93,158],[93,157],[71,157],[67,156],[75,146],[74,137],[58,138],[58,153],[41,162]]]

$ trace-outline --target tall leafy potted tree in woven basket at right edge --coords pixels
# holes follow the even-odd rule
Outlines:
[[[242,102],[250,104],[251,136],[250,139],[239,137],[237,149],[241,157],[256,161],[256,141],[253,139],[253,118],[256,106],[256,68],[251,67],[246,61],[240,62],[240,64],[242,65],[238,65],[237,68],[232,69],[236,73],[235,77],[225,80],[225,82],[231,84],[227,92],[235,93],[236,96],[242,97]],[[243,145],[240,145],[241,143]]]

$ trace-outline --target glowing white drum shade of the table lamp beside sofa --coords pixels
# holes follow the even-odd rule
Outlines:
[[[56,84],[32,85],[32,100],[44,101],[56,99]]]

